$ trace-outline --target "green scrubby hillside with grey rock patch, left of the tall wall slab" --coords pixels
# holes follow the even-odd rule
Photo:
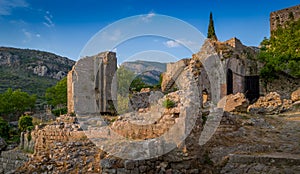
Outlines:
[[[42,98],[46,89],[65,77],[74,64],[48,52],[0,47],[0,93],[13,88]]]

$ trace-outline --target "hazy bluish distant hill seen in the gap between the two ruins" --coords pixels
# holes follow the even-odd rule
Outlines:
[[[122,63],[125,68],[133,71],[149,85],[155,85],[159,82],[159,76],[166,71],[166,63],[148,62],[137,60],[134,62]]]

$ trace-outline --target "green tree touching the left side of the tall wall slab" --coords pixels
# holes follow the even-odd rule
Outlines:
[[[48,88],[45,94],[48,104],[52,106],[67,105],[67,77],[60,80],[55,86]]]

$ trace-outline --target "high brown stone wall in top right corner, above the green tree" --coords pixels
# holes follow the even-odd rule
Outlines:
[[[270,14],[270,30],[276,30],[278,26],[284,26],[287,21],[300,18],[300,5],[274,11]]]

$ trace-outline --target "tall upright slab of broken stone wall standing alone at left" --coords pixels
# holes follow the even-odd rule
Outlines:
[[[117,103],[114,52],[80,59],[68,74],[68,111],[76,114],[114,114]]]

